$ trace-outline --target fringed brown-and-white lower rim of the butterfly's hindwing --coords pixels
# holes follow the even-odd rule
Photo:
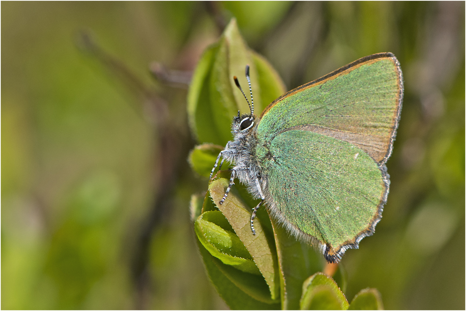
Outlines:
[[[372,217],[371,221],[369,222],[368,226],[359,232],[353,239],[344,242],[343,244],[339,245],[336,248],[332,248],[329,244],[324,244],[322,241],[317,239],[315,236],[308,235],[290,222],[285,221],[285,217],[280,212],[280,210],[275,206],[274,200],[268,191],[268,187],[264,187],[267,185],[262,185],[264,194],[266,196],[266,202],[268,210],[270,214],[274,217],[274,219],[283,226],[291,235],[295,236],[296,239],[299,241],[303,241],[305,243],[313,245],[320,253],[322,253],[329,263],[339,263],[342,259],[343,254],[347,249],[357,249],[359,247],[359,242],[366,237],[373,235],[375,232],[375,228],[377,223],[382,218],[382,211],[384,210],[384,205],[387,202],[388,192],[390,188],[390,175],[387,173],[387,167],[382,164],[379,165],[379,169],[382,173],[382,179],[384,182],[384,194],[377,205],[377,212]]]

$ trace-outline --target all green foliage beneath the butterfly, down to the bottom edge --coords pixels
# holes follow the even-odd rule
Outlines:
[[[380,294],[375,289],[361,290],[349,304],[330,276],[317,272],[303,280],[303,276],[312,271],[322,270],[321,256],[290,238],[281,226],[273,223],[277,252],[273,232],[266,229],[267,225],[262,226],[270,223],[266,213],[258,213],[254,223],[256,235],[251,238],[251,213],[236,188],[232,188],[229,200],[224,204],[212,206],[212,200],[218,202],[227,186],[225,178],[215,178],[210,184],[210,196],[206,195],[202,214],[194,227],[207,273],[232,309],[383,309]],[[220,210],[209,210],[211,208]],[[247,260],[249,262],[245,263]],[[251,262],[257,265],[260,273],[250,269]],[[341,266],[335,276],[346,286]]]

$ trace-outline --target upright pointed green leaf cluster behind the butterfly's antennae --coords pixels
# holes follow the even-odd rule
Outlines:
[[[232,19],[219,41],[202,55],[188,92],[189,123],[199,142],[225,145],[232,138],[233,117],[238,111],[249,112],[249,106],[233,80],[233,76],[237,76],[248,93],[247,64],[250,66],[254,113],[259,115],[266,104],[285,92],[284,84],[272,66],[247,47],[236,20]]]

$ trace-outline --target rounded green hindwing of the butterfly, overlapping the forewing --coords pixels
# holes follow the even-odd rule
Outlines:
[[[273,213],[298,237],[329,246],[330,254],[355,247],[380,219],[384,172],[345,141],[284,131],[272,140],[263,169]]]

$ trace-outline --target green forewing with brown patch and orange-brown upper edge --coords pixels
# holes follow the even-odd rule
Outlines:
[[[387,55],[391,54],[381,54]],[[259,145],[284,129],[302,126],[302,130],[358,145],[384,163],[398,124],[403,84],[394,56],[371,57],[291,90],[270,104],[260,116],[257,130],[263,141]]]

